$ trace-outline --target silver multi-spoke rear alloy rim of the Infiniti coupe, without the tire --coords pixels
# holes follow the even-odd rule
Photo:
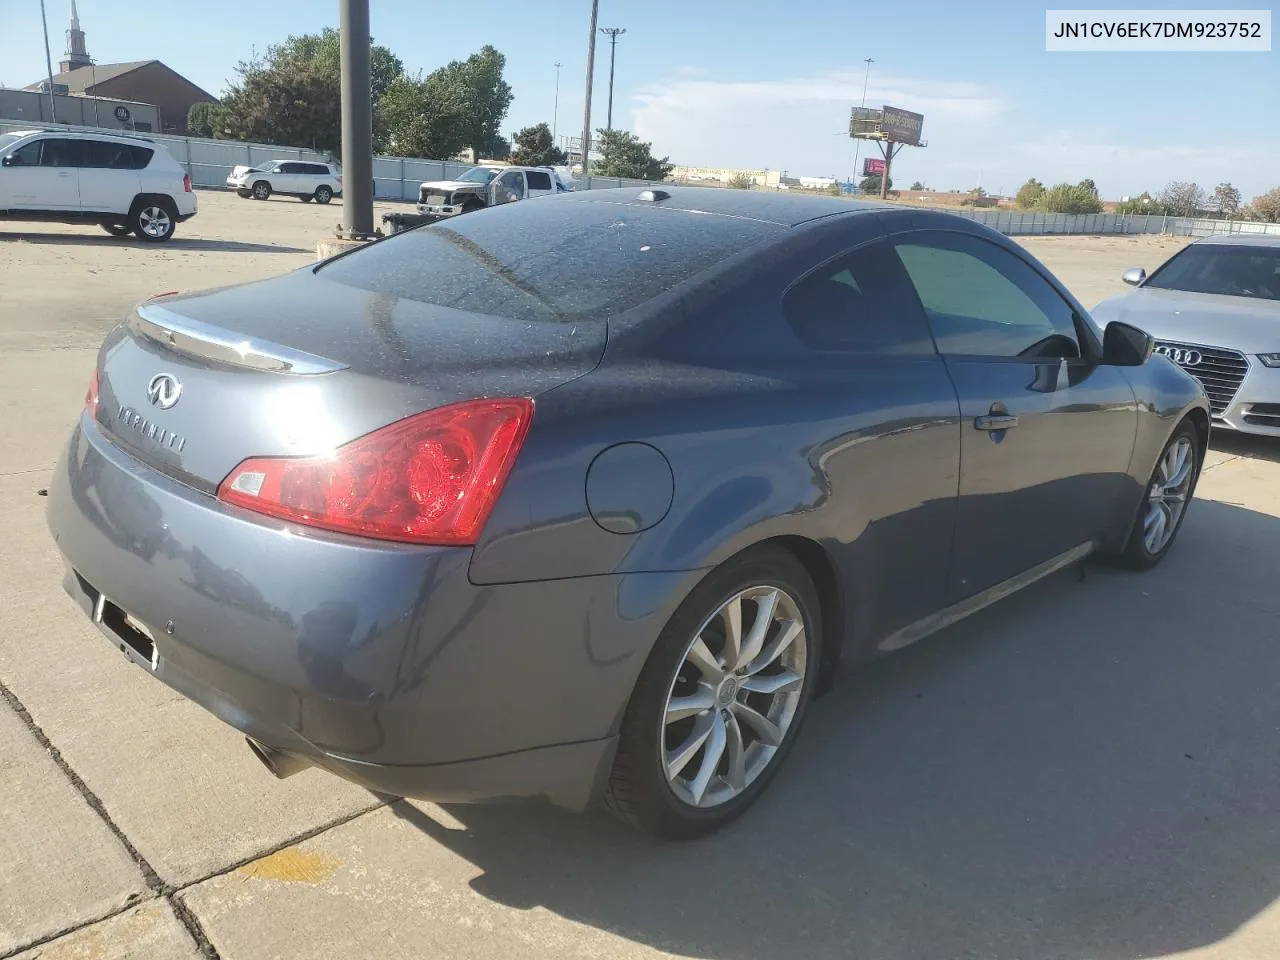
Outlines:
[[[698,630],[667,692],[662,769],[685,804],[712,808],[773,762],[800,707],[808,644],[800,605],[778,586],[751,586]]]

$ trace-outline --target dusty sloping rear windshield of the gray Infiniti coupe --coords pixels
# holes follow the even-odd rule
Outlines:
[[[323,266],[326,279],[513,320],[604,319],[785,228],[540,197],[408,230]]]

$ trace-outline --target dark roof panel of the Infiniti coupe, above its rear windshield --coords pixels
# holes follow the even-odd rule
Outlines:
[[[653,192],[666,193],[660,200],[644,198]],[[876,210],[896,210],[891,204],[838,197],[813,197],[795,193],[769,193],[764,191],[732,189],[728,187],[675,187],[655,183],[652,187],[621,187],[609,189],[580,189],[572,198],[557,202],[579,204],[659,204],[667,210],[740,216],[765,220],[783,227],[797,227],[810,220],[837,214],[860,214]]]

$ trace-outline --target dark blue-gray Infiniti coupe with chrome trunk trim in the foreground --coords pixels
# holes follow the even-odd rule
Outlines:
[[[582,191],[143,303],[49,526],[106,639],[276,776],[678,838],[838,662],[1160,562],[1208,435],[1147,334],[979,224]]]

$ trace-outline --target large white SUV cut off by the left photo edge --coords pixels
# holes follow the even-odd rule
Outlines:
[[[160,243],[195,215],[191,177],[145,137],[0,133],[0,220],[97,223]]]

